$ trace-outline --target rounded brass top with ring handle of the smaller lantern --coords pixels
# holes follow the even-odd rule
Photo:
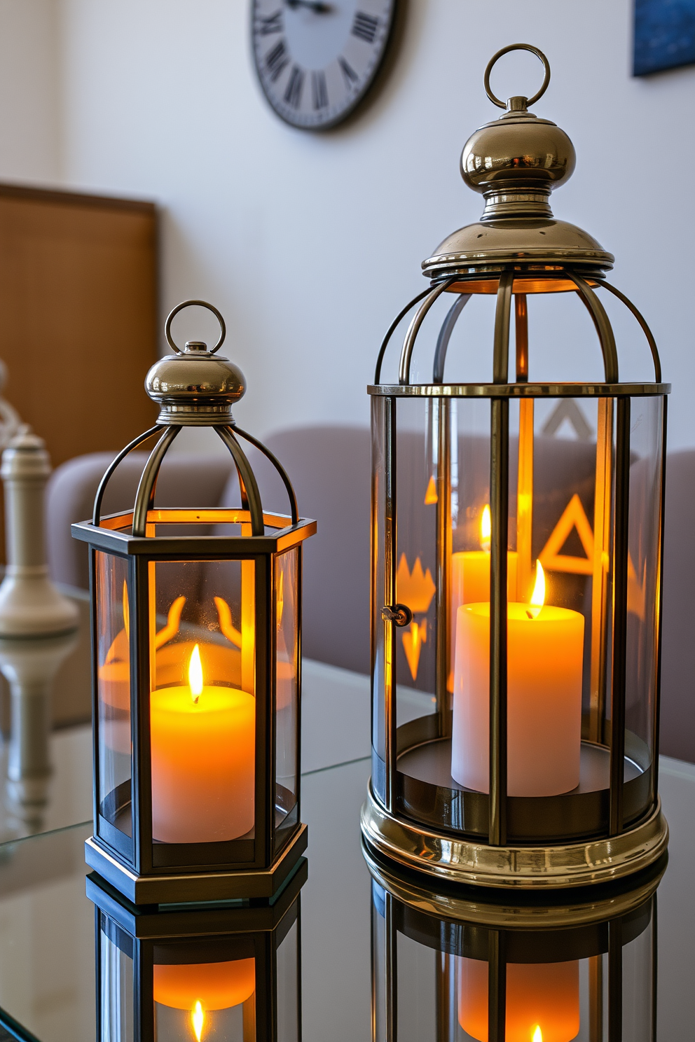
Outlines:
[[[188,341],[181,350],[172,339],[172,320],[191,304],[207,307],[220,323],[220,339],[209,350],[198,340]],[[216,354],[225,338],[218,309],[203,300],[185,300],[169,315],[166,334],[175,353],[155,362],[145,378],[145,390],[160,408],[157,423],[208,426],[229,422],[232,404],[246,391],[246,379],[233,362]]]

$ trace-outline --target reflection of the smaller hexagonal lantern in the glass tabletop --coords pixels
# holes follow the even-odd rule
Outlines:
[[[274,903],[135,913],[96,875],[99,1042],[300,1042],[300,864]]]

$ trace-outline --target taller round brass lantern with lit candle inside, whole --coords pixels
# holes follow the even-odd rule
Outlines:
[[[511,98],[466,144],[463,177],[485,213],[424,262],[430,287],[392,325],[369,388],[373,769],[363,832],[440,877],[572,887],[643,868],[667,843],[656,766],[670,389],[646,322],[605,280],[613,256],[552,216],[550,192],[571,175],[574,149],[528,110],[550,73],[525,49],[543,61],[544,85]],[[490,91],[497,57],[486,88],[504,108]],[[421,330],[447,296],[427,363]],[[606,298],[626,308],[652,380],[620,381]],[[390,338],[416,304],[398,382],[387,382]],[[445,363],[485,378],[477,329],[467,341],[458,323],[463,363],[447,348],[464,308],[465,319],[486,304],[489,378],[455,381]],[[566,368],[594,376],[536,382],[527,314],[550,311],[560,357],[563,305],[567,328],[584,312],[587,332],[587,358],[573,351]],[[575,437],[553,437],[561,424]]]

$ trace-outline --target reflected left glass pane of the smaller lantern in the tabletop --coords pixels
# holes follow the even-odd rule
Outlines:
[[[99,1042],[133,1042],[132,942],[100,919]]]

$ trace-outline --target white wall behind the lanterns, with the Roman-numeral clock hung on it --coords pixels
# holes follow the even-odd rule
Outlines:
[[[163,316],[187,296],[221,307],[249,381],[239,416],[259,432],[367,421],[381,334],[424,288],[421,259],[481,209],[457,163],[468,134],[498,113],[482,92],[485,65],[506,43],[540,46],[553,78],[537,110],[569,132],[578,155],[554,210],[616,254],[614,281],[652,324],[674,384],[670,443],[695,444],[695,68],[630,77],[631,0],[499,0],[494,14],[471,0],[411,0],[386,91],[326,135],[286,126],[263,99],[248,0],[54,3],[64,181],[162,204]],[[498,93],[530,93],[535,59],[506,60]],[[465,342],[479,353],[486,304],[469,311]],[[539,376],[598,375],[579,313],[575,300],[531,302]],[[619,321],[618,332],[623,374],[648,375],[632,326]],[[480,359],[468,372],[486,368]]]

